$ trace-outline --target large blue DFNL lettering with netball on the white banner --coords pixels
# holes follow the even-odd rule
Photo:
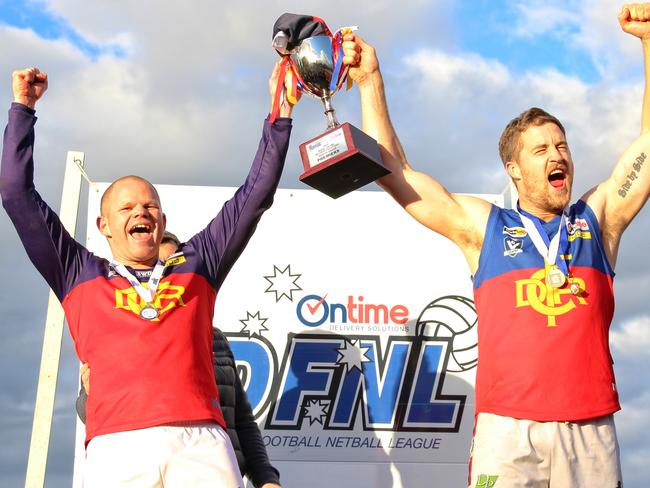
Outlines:
[[[226,335],[267,430],[350,430],[361,414],[363,430],[458,432],[466,395],[442,392],[447,372],[476,366],[475,325],[470,299],[445,296],[420,313],[415,336],[389,336],[385,351],[377,335],[289,334],[279,367],[265,337]]]

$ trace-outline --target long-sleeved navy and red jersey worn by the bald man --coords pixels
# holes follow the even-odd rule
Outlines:
[[[245,183],[168,259],[153,305],[110,263],[76,242],[33,183],[34,111],[13,104],[0,170],[2,203],[38,271],[63,304],[79,359],[92,371],[86,441],[155,425],[212,420],[225,428],[212,353],[217,292],[273,202],[291,122],[264,124]],[[140,281],[150,271],[130,270]]]

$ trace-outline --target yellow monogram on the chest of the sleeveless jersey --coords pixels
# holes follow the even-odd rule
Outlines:
[[[586,305],[587,301],[581,295],[571,293],[567,286],[554,288],[547,284],[546,272],[546,269],[540,269],[530,278],[515,282],[517,308],[532,307],[536,312],[546,315],[549,327],[555,327],[558,316],[569,313],[579,305]],[[584,280],[573,277],[571,282],[585,289]]]

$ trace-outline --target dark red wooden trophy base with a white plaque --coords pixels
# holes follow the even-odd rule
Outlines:
[[[300,157],[305,167],[300,181],[332,198],[390,173],[377,141],[347,122],[301,144]]]

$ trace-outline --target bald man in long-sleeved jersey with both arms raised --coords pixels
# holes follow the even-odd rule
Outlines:
[[[273,91],[278,73],[276,65]],[[84,486],[243,487],[214,378],[212,319],[221,284],[273,202],[292,106],[284,100],[280,118],[264,122],[244,184],[164,263],[156,189],[138,176],[113,182],[97,218],[108,261],[76,242],[34,187],[35,106],[47,83],[37,68],[13,73],[0,194],[93,372]]]

